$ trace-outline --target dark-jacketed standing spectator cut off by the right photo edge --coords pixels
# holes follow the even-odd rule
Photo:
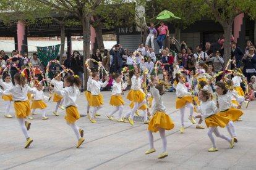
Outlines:
[[[244,63],[242,73],[247,78],[247,81],[250,81],[252,76],[256,76],[256,55],[254,47],[249,48],[249,54],[244,54],[242,62]]]

